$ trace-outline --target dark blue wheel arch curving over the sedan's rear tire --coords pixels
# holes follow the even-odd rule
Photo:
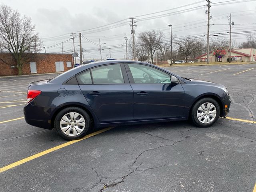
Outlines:
[[[56,111],[54,111],[54,113],[52,114],[52,118],[51,118],[51,128],[54,128],[54,121],[55,121],[57,114],[64,108],[68,108],[68,107],[78,107],[78,108],[85,110],[91,118],[91,123],[92,123],[91,128],[96,127],[97,118],[96,118],[96,116],[94,116],[94,114],[91,110],[89,110],[86,106],[84,106],[81,103],[68,103],[68,104],[60,106]]]

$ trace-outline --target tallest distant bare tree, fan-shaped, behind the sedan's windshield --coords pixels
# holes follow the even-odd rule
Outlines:
[[[151,30],[142,32],[139,34],[138,40],[141,46],[144,46],[146,50],[148,50],[150,54],[150,58],[153,64],[153,56],[158,49],[158,44],[162,41],[164,35],[160,31]]]

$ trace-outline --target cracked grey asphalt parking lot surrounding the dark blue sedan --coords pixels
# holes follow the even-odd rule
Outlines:
[[[70,143],[23,118],[28,82],[56,74],[0,78],[0,191],[252,192],[256,64],[166,69],[224,84],[235,119],[120,126]]]

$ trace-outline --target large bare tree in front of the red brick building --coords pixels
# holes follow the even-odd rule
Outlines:
[[[0,40],[5,50],[12,54],[19,75],[22,74],[24,64],[32,54],[38,52],[42,44],[34,30],[30,18],[21,17],[17,10],[4,4],[0,6]]]

